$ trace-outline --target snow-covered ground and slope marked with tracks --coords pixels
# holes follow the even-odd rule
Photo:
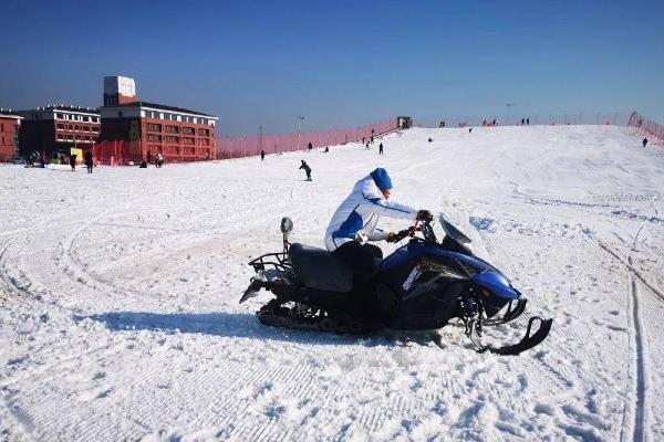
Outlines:
[[[264,164],[0,167],[0,440],[664,440],[664,151],[608,126],[383,143],[384,157],[376,143]],[[479,355],[455,326],[443,348],[287,332],[258,324],[267,295],[238,305],[281,217],[322,246],[376,166],[394,200],[444,212],[528,314],[554,318],[540,347]]]

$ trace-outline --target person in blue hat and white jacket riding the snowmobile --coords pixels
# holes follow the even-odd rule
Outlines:
[[[381,217],[404,220],[432,220],[428,210],[415,210],[388,201],[392,179],[387,170],[377,168],[362,178],[332,215],[325,232],[325,246],[353,272],[353,291],[364,291],[371,278],[374,259],[383,257],[380,248],[367,241],[383,241],[394,235],[376,228]]]

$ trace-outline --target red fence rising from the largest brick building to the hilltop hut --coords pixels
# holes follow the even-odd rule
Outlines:
[[[338,146],[346,143],[370,139],[397,128],[397,118],[387,122],[369,124],[350,129],[332,129],[323,131],[307,131],[282,135],[252,135],[248,137],[218,138],[217,158],[239,158],[283,151],[305,150],[309,143],[312,147]]]

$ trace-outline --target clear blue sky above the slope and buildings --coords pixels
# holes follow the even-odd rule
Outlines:
[[[396,115],[637,109],[664,123],[664,1],[23,1],[0,106],[98,106],[104,75],[219,135]]]

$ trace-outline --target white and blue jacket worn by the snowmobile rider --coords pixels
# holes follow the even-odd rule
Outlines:
[[[325,248],[333,252],[357,236],[362,241],[386,240],[388,233],[376,229],[381,215],[414,220],[417,210],[386,200],[373,178],[366,176],[355,183],[332,215],[325,232]]]

